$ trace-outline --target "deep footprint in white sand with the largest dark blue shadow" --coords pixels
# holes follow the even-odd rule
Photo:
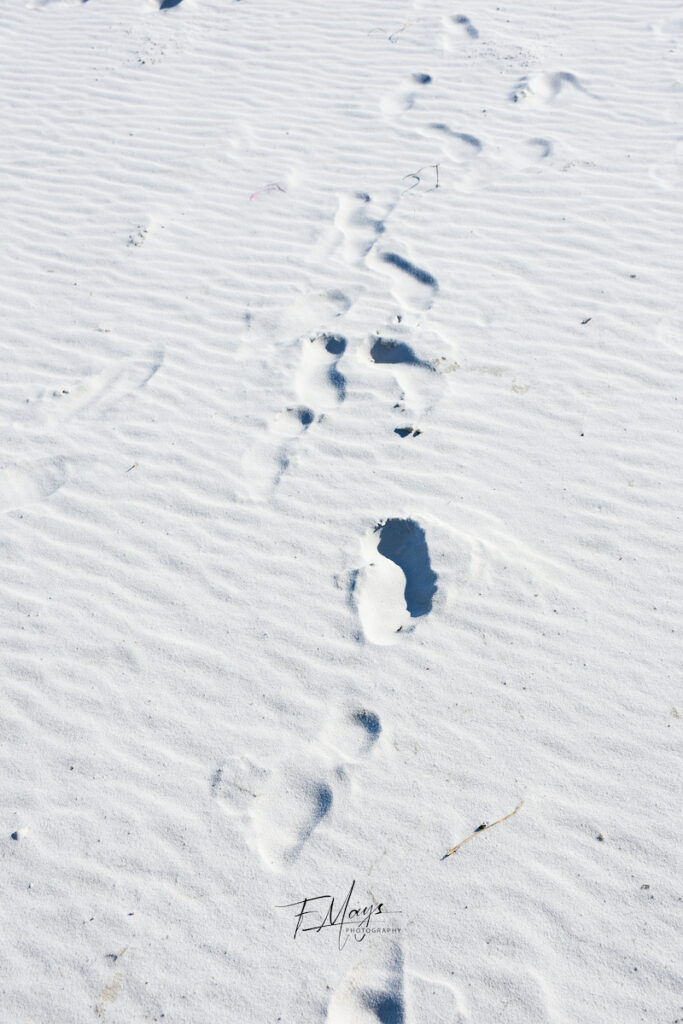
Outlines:
[[[386,519],[364,538],[361,550],[366,565],[353,573],[351,597],[366,639],[386,646],[429,614],[438,578],[414,519]]]

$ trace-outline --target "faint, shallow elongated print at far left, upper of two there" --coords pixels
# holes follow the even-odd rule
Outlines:
[[[29,402],[25,416],[42,423],[70,420],[74,416],[103,416],[122,398],[144,387],[163,359],[163,351],[156,350],[147,355],[121,359],[99,373],[76,381],[61,381]]]

